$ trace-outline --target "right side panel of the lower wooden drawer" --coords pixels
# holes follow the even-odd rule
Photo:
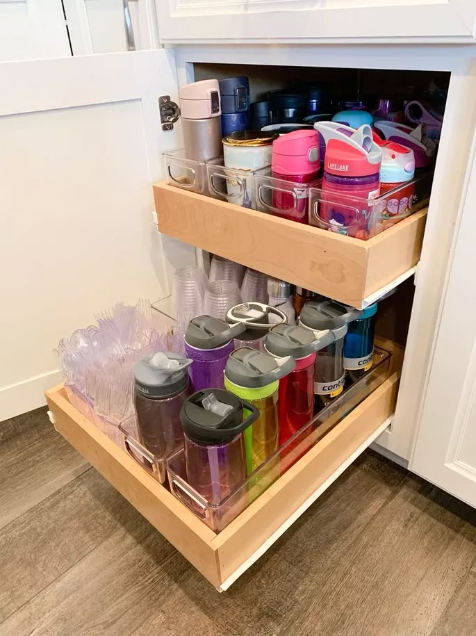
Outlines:
[[[324,483],[395,409],[395,373],[309,450],[213,541],[227,579]]]

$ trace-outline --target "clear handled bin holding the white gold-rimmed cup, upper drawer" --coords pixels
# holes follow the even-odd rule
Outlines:
[[[208,192],[214,199],[222,199],[243,208],[256,209],[255,178],[268,170],[243,170],[227,168],[223,157],[211,159],[206,164]]]

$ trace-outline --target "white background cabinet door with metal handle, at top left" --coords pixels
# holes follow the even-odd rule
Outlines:
[[[74,55],[158,47],[154,0],[63,0]]]

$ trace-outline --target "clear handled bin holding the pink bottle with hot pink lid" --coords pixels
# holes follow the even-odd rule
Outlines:
[[[320,188],[321,180],[309,184],[272,177],[270,168],[256,174],[256,209],[298,223],[308,222],[308,202],[311,188]]]

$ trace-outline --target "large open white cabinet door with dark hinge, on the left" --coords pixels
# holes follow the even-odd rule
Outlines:
[[[159,236],[151,184],[173,51],[0,64],[0,421],[44,403],[54,348],[118,300],[156,300],[192,247]]]

